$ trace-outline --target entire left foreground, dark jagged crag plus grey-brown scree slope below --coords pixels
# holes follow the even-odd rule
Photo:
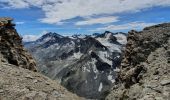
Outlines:
[[[0,100],[83,100],[37,72],[14,24],[0,27]]]

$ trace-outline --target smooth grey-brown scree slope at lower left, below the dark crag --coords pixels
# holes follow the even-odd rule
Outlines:
[[[8,63],[0,67],[1,100],[83,100],[57,81]]]

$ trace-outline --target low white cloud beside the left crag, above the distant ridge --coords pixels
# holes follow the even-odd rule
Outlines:
[[[35,41],[37,40],[38,38],[40,38],[41,36],[47,34],[48,31],[42,31],[42,33],[40,35],[23,35],[23,41],[24,42],[30,42],[30,41]]]

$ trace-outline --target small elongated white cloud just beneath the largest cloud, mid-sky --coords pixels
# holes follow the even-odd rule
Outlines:
[[[93,24],[107,24],[112,22],[117,22],[118,17],[108,16],[108,17],[100,17],[100,18],[88,18],[85,21],[76,22],[75,25],[93,25]]]

